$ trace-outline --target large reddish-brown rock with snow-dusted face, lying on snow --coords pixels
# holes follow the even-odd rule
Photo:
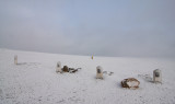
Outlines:
[[[140,84],[140,82],[135,78],[128,78],[128,79],[124,79],[121,81],[122,88],[138,89],[139,84]]]

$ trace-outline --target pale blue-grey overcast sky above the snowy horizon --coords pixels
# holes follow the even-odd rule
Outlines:
[[[175,57],[175,0],[0,0],[0,48]]]

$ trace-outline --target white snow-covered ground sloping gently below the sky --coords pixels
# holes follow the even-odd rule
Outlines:
[[[58,61],[82,69],[56,73]],[[107,71],[103,80],[95,79],[97,66]],[[162,71],[162,84],[152,82],[154,69]],[[140,88],[121,88],[126,78],[138,79]],[[175,104],[175,60],[0,49],[0,104]]]

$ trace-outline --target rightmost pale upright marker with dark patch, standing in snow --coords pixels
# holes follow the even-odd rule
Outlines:
[[[162,73],[160,69],[155,69],[153,71],[153,82],[161,82],[162,83]]]

